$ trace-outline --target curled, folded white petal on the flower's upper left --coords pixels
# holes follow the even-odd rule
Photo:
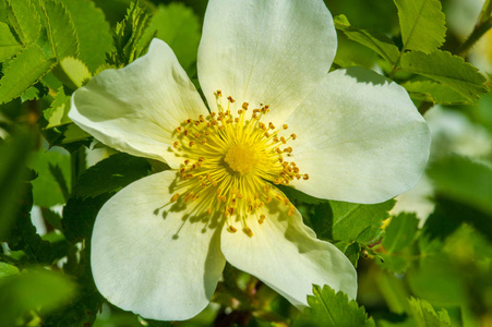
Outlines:
[[[69,117],[118,150],[178,167],[169,149],[172,131],[207,110],[175,53],[154,39],[147,55],[121,70],[107,70],[72,96]]]

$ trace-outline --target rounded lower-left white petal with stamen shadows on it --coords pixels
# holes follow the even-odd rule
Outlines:
[[[188,319],[207,304],[224,269],[220,228],[170,204],[175,172],[141,179],[100,209],[92,238],[99,292],[143,317]],[[217,232],[218,231],[218,232]]]

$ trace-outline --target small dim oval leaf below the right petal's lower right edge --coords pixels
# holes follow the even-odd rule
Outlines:
[[[386,227],[383,245],[387,252],[394,253],[413,243],[419,219],[415,214],[401,213],[392,218]]]

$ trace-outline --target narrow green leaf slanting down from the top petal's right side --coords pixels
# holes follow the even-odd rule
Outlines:
[[[349,39],[370,48],[392,64],[395,64],[398,61],[399,49],[387,36],[356,28],[350,25],[345,15],[335,16],[334,22],[335,27],[338,31],[344,32]]]

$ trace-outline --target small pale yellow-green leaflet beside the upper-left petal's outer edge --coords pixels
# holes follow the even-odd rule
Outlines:
[[[69,56],[59,61],[59,63],[56,70],[57,77],[73,90],[84,85],[92,77],[85,63],[76,58]]]

